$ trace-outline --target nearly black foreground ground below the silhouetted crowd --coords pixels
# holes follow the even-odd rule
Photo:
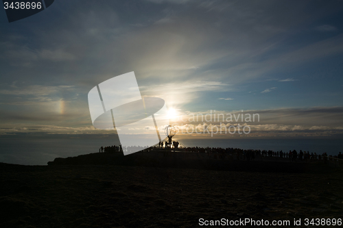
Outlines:
[[[199,227],[200,218],[280,219],[293,226],[294,218],[343,217],[338,168],[225,165],[235,168],[0,164],[0,227]]]

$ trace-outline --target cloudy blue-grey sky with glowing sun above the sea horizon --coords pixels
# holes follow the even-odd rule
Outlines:
[[[93,127],[87,94],[134,71],[141,95],[164,99],[179,129],[212,110],[259,114],[206,123],[249,125],[252,137],[342,137],[342,10],[343,1],[59,0],[13,23],[0,10],[0,134],[109,134]]]

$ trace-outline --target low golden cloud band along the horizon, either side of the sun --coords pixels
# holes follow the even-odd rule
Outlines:
[[[218,114],[224,114],[225,118],[227,114],[241,115],[244,114],[259,114],[259,121],[257,118],[255,122],[241,122],[241,117],[238,116],[237,122],[235,117],[233,117],[233,122],[222,121]],[[29,115],[29,116],[28,116]],[[189,121],[191,116],[199,116],[198,122]],[[202,121],[202,116],[207,115],[206,119],[210,119],[211,122]],[[214,116],[216,115],[216,116]],[[204,131],[204,128],[209,127],[228,127],[234,126],[241,127],[249,126],[251,133],[249,136],[333,136],[343,134],[343,107],[316,107],[309,109],[274,109],[274,110],[245,110],[245,111],[215,111],[212,110],[212,115],[210,115],[210,110],[206,112],[187,112],[184,116],[180,117],[179,122],[175,122],[174,125],[179,131],[184,133],[191,132],[191,129],[197,129],[198,132]],[[1,124],[0,134],[12,134],[12,133],[47,133],[47,134],[113,134],[109,130],[99,130],[95,129],[91,125],[91,121],[87,117],[84,118],[84,127],[71,127],[68,125],[56,126],[56,125],[34,125],[20,123],[13,127],[8,123],[8,118],[11,121],[14,120],[29,120],[35,121],[35,123],[44,123],[44,121],[51,121],[55,123],[56,121],[66,121],[72,120],[73,118],[80,118],[78,114],[69,114],[67,116],[60,116],[53,113],[45,113],[42,116],[29,112],[28,114],[8,114],[8,116],[3,116],[1,114],[1,119],[5,120]],[[213,121],[216,118],[216,121]],[[183,120],[183,121],[182,121]],[[205,119],[204,119],[205,120]],[[320,123],[320,125],[314,125],[314,123]],[[75,132],[76,131],[76,132]],[[211,132],[211,131],[210,131]],[[181,135],[181,134],[180,134]],[[224,134],[225,136],[225,134]],[[227,135],[226,135],[227,136]]]

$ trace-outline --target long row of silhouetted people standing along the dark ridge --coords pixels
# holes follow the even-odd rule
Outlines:
[[[215,159],[226,159],[230,156],[235,158],[235,160],[255,160],[256,157],[261,159],[265,157],[272,157],[276,160],[283,159],[289,160],[292,162],[296,161],[314,161],[322,160],[325,163],[327,160],[339,160],[340,163],[343,163],[343,154],[340,152],[338,155],[327,155],[327,153],[317,154],[310,153],[309,151],[266,151],[266,150],[252,150],[252,149],[238,149],[238,148],[221,148],[221,147],[179,147],[179,142],[173,141],[171,144],[169,142],[159,142],[158,145],[154,147],[121,147],[119,146],[110,146],[110,147],[101,147],[99,152],[115,153],[115,152],[135,152],[135,151],[152,151],[152,150],[165,150],[165,151],[176,151],[176,152],[187,152],[187,153],[206,153],[208,157]]]

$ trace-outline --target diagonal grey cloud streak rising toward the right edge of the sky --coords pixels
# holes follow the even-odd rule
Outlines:
[[[237,64],[227,65],[225,68],[215,69],[211,72],[211,77],[221,77],[222,75],[231,75],[226,77],[231,83],[244,83],[251,79],[258,79],[268,73],[287,70],[289,67],[298,67],[300,64],[308,64],[316,60],[325,60],[334,55],[343,53],[343,35],[333,36],[325,40],[320,40],[297,49],[289,49],[286,53],[276,53],[268,56],[270,49],[260,46],[263,51],[256,56],[251,55],[250,61],[240,61],[241,58],[237,52],[232,56],[237,58]],[[257,46],[256,46],[257,47]],[[272,49],[279,49],[279,43],[276,43]],[[244,47],[241,49],[241,55],[244,55]],[[255,57],[266,56],[265,60],[259,61]],[[235,63],[235,60],[230,60]],[[235,77],[233,77],[235,76]],[[223,77],[223,76],[222,76]]]

